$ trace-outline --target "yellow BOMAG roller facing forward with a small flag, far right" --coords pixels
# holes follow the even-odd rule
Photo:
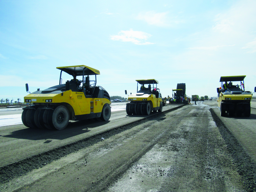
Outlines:
[[[244,90],[244,78],[246,76],[223,76],[220,77],[221,87],[217,88],[218,107],[221,116],[242,116],[251,115],[252,92]],[[233,85],[233,82],[239,82]],[[229,83],[224,83],[229,82]],[[254,88],[254,92],[256,87]]]

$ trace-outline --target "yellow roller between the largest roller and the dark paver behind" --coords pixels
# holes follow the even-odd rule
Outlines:
[[[136,80],[137,93],[128,96],[129,103],[126,103],[126,113],[128,115],[149,115],[151,111],[162,112],[162,95],[157,88],[158,81],[155,79]],[[140,88],[138,85],[140,84]],[[144,87],[144,85],[148,85]],[[152,85],[152,87],[151,87]],[[125,94],[127,91],[125,90]]]

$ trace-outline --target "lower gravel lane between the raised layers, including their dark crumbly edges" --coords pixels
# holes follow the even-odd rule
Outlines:
[[[215,113],[216,101],[204,103],[13,164],[31,169],[20,176],[5,167],[0,191],[256,191],[254,159]]]

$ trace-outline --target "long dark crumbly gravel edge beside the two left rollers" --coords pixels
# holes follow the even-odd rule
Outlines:
[[[59,146],[57,148],[54,148],[49,151],[45,151],[30,157],[27,157],[25,159],[19,160],[15,163],[8,164],[5,166],[0,167],[0,183],[6,183],[9,182],[10,179],[13,179],[18,176],[22,176],[33,169],[39,169],[43,167],[44,165],[51,163],[52,161],[58,160],[61,157],[64,157],[70,153],[76,152],[82,148],[91,146],[95,143],[98,143],[101,141],[101,137],[103,138],[109,138],[115,134],[121,133],[125,130],[131,129],[134,126],[137,126],[141,123],[144,123],[148,120],[151,120],[153,118],[156,118],[158,116],[161,116],[163,114],[169,113],[171,111],[177,110],[185,105],[180,105],[175,108],[163,111],[161,113],[156,112],[153,113],[150,116],[147,116],[143,119],[140,119],[138,121],[134,121],[131,123],[128,123],[126,125],[114,127],[111,130],[103,131],[101,133],[92,135],[90,137],[84,138],[82,140],[69,143],[67,145]]]

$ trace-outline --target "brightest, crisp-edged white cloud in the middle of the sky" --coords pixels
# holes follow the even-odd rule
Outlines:
[[[143,31],[120,31],[118,35],[111,35],[110,38],[115,41],[124,41],[124,42],[132,42],[136,45],[149,45],[154,44],[146,41],[152,35],[145,33]]]

